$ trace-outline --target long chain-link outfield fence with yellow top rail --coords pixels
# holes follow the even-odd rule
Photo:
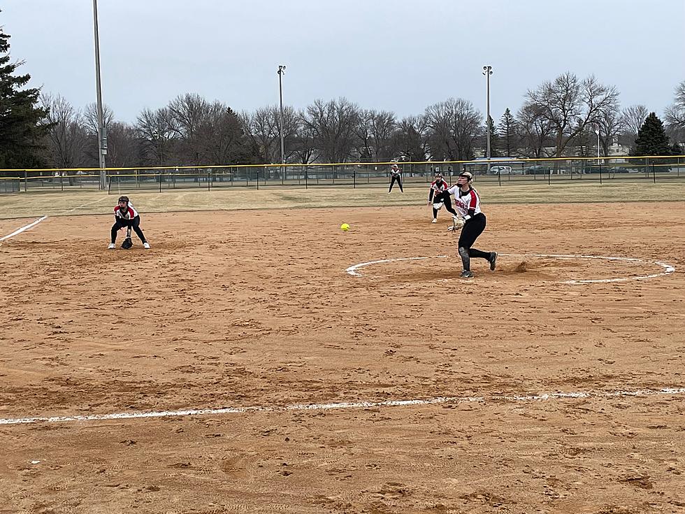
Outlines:
[[[266,164],[175,166],[106,170],[108,192],[121,190],[212,190],[226,187],[384,187],[391,163]],[[403,185],[425,185],[435,173],[454,183],[463,169],[475,183],[563,183],[568,180],[612,183],[616,180],[678,180],[685,177],[685,156],[614,159],[485,159],[454,162],[400,162]],[[99,169],[0,170],[0,194],[98,190]]]

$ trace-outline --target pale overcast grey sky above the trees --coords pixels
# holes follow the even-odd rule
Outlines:
[[[0,0],[30,85],[94,102],[92,0]],[[560,73],[662,115],[685,80],[685,0],[98,0],[103,102],[134,122],[185,92],[236,111],[346,97],[417,115],[449,97],[491,114]]]

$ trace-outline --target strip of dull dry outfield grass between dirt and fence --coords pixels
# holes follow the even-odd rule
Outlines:
[[[525,183],[476,186],[483,205],[563,204],[630,201],[683,201],[685,183],[651,183],[647,180],[597,182]],[[238,210],[264,208],[318,208],[419,206],[428,200],[428,186],[408,184],[405,192],[387,194],[380,187],[233,187],[208,190],[119,190],[106,194],[92,190],[64,192],[19,192],[0,196],[0,219],[37,215],[106,214],[120,194],[127,194],[141,213],[184,210]]]

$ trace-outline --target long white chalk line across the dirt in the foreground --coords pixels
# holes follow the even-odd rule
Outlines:
[[[222,414],[246,414],[246,413],[278,413],[289,411],[333,411],[348,408],[381,408],[401,407],[415,405],[435,404],[466,404],[487,402],[518,402],[518,401],[549,401],[554,399],[578,399],[578,398],[616,398],[616,397],[650,397],[658,395],[684,394],[685,387],[663,387],[661,389],[641,389],[635,391],[600,391],[600,392],[549,392],[542,394],[513,394],[495,395],[491,397],[436,397],[429,399],[414,400],[387,400],[387,401],[349,401],[334,404],[294,404],[282,407],[252,406],[252,407],[224,407],[224,408],[200,408],[187,409],[184,411],[152,411],[143,413],[112,413],[90,414],[73,416],[50,416],[50,417],[16,417],[0,418],[0,425],[9,424],[32,424],[32,423],[58,423],[74,421],[104,421],[104,420],[135,420],[152,417],[179,417],[179,416],[206,416]]]

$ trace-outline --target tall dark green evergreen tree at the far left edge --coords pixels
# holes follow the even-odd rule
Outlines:
[[[8,39],[0,27],[0,168],[39,166],[38,150],[47,127],[48,114],[38,106],[36,88],[24,89],[30,75],[14,76],[23,62],[10,62]]]

